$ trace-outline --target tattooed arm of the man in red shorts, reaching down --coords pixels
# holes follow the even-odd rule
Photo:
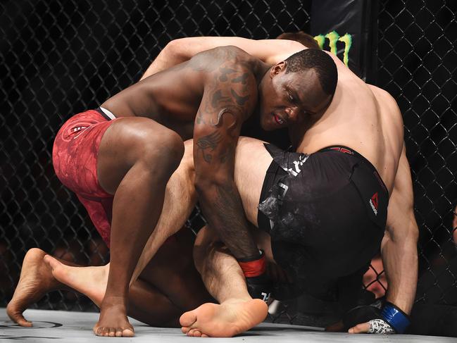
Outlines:
[[[232,254],[258,256],[234,183],[235,148],[242,123],[256,104],[256,79],[232,54],[237,48],[214,50],[219,56],[205,53],[200,61],[211,64],[212,70],[206,76],[194,125],[196,189],[208,224]],[[221,53],[225,54],[222,58]]]

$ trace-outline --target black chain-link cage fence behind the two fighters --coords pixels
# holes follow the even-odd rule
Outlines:
[[[82,265],[108,261],[84,208],[54,175],[52,143],[66,119],[139,80],[171,39],[308,32],[310,11],[304,0],[2,2],[0,306],[11,299],[32,247]],[[417,300],[442,304],[457,304],[456,12],[455,1],[383,0],[378,15],[377,85],[401,108],[413,174],[419,275],[427,280]],[[187,225],[202,223],[197,208]],[[377,258],[364,278],[378,296],[388,287],[382,269]],[[318,325],[325,304],[318,305],[320,312],[310,313],[302,301],[275,304],[270,320]],[[53,292],[35,306],[96,309],[70,292]]]

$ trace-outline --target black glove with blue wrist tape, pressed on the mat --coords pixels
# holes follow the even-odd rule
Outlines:
[[[370,323],[368,333],[392,334],[403,333],[410,324],[409,316],[400,308],[388,301],[382,306],[382,301],[368,306],[358,306],[344,315],[344,328],[349,330],[361,323]]]

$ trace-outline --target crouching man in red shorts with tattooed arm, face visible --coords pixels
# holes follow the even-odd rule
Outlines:
[[[286,72],[286,64],[294,69]],[[329,73],[315,73],[310,66],[333,71],[333,79],[323,82],[321,76]],[[182,139],[194,137],[196,187],[208,223],[220,229],[237,258],[258,259],[233,181],[242,123],[256,105],[261,125],[270,128],[284,125],[284,115],[276,114],[283,108],[323,111],[336,79],[334,63],[322,51],[301,51],[271,68],[226,46],[147,77],[61,127],[53,150],[56,174],[77,194],[111,245],[96,335],[133,335],[126,316],[128,286],[158,222],[165,185],[182,158]],[[297,96],[294,108],[282,94],[284,84]],[[158,246],[169,236],[154,234]]]

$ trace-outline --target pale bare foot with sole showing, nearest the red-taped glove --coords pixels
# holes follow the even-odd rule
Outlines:
[[[181,330],[194,337],[232,337],[261,323],[267,313],[261,299],[203,304],[181,316]]]

